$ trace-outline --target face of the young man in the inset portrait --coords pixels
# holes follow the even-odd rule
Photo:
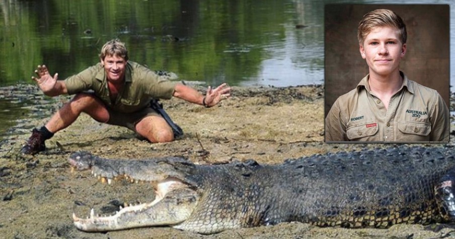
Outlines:
[[[406,54],[398,30],[392,27],[374,27],[360,44],[360,54],[366,60],[370,74],[388,76],[399,70],[400,60]]]

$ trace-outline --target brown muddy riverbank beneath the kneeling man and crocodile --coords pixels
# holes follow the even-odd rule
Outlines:
[[[19,89],[23,88],[23,89]],[[203,88],[198,87],[199,90]],[[174,142],[150,144],[128,129],[100,124],[82,115],[73,125],[46,142],[34,156],[19,150],[33,127],[43,125],[68,97],[49,99],[33,86],[3,89],[3,95],[24,91],[35,119],[20,120],[0,143],[0,237],[2,238],[438,238],[453,236],[422,225],[389,229],[320,228],[305,223],[281,223],[200,235],[171,227],[137,228],[107,233],[75,229],[71,214],[111,213],[121,203],[153,200],[149,185],[98,182],[89,172],[70,172],[67,158],[87,150],[107,158],[147,158],[181,155],[197,164],[250,158],[278,164],[288,158],[340,150],[359,150],[378,144],[326,144],[322,86],[234,88],[233,97],[206,109],[178,99],[164,101],[185,135]]]

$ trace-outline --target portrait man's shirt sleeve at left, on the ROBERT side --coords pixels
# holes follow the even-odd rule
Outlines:
[[[349,141],[346,136],[346,124],[341,117],[339,99],[335,101],[326,117],[326,142]]]

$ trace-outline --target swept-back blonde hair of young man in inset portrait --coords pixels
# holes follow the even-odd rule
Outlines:
[[[359,22],[357,31],[357,38],[359,44],[363,44],[366,36],[371,32],[374,27],[393,27],[398,30],[400,41],[402,44],[406,43],[408,34],[406,32],[406,25],[396,13],[388,9],[376,9],[365,15]]]

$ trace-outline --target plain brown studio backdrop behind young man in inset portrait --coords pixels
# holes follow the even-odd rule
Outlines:
[[[359,52],[357,26],[364,14],[375,9],[390,9],[406,24],[407,52],[400,70],[412,81],[438,91],[448,106],[448,5],[326,5],[325,116],[335,100],[354,89],[368,73]]]

